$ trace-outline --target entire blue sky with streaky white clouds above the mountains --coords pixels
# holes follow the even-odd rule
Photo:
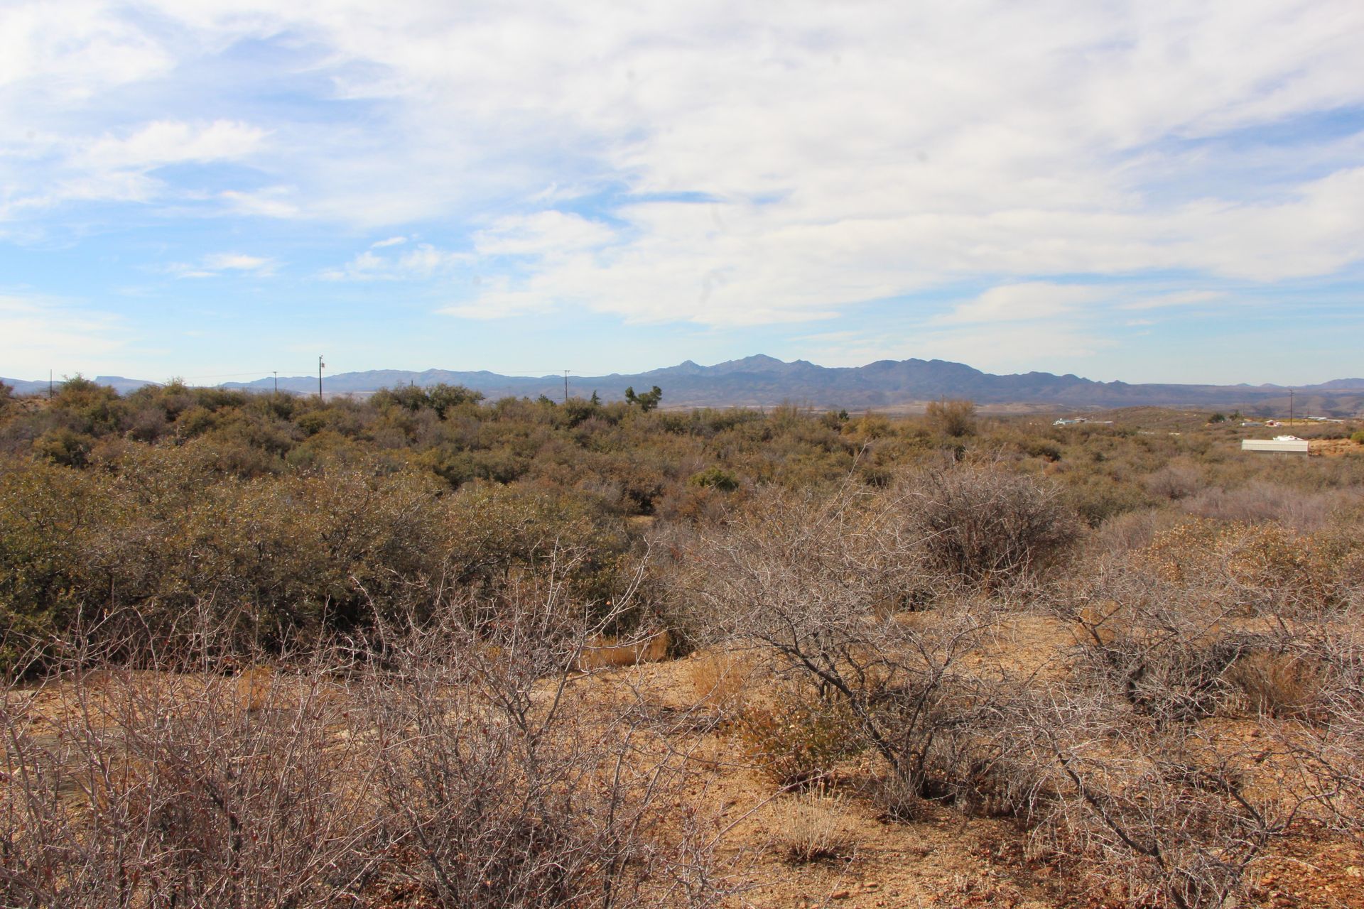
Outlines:
[[[0,3],[0,375],[1364,373],[1359,0]]]

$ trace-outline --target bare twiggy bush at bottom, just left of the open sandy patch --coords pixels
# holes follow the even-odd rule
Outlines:
[[[449,906],[708,905],[713,831],[677,812],[694,771],[636,705],[574,690],[604,615],[551,579],[495,604],[464,601],[385,639],[359,685],[381,818]],[[642,643],[619,642],[619,646]]]

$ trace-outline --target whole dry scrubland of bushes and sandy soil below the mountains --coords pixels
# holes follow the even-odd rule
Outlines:
[[[1209,417],[0,392],[0,905],[1364,905],[1364,444]]]

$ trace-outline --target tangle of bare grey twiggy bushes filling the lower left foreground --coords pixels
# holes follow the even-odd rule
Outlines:
[[[711,905],[686,737],[576,687],[630,591],[572,602],[565,564],[301,664],[83,654],[10,687],[0,904],[334,906],[405,879],[443,906]]]

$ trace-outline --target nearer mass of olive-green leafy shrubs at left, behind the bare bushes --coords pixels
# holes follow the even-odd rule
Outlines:
[[[33,642],[78,631],[175,649],[202,612],[241,646],[363,632],[375,617],[431,615],[451,583],[492,596],[567,551],[565,583],[585,601],[610,600],[634,570],[623,527],[582,496],[442,496],[420,470],[341,455],[316,473],[241,480],[220,473],[221,454],[205,439],[136,446],[108,470],[0,473],[5,671]]]

